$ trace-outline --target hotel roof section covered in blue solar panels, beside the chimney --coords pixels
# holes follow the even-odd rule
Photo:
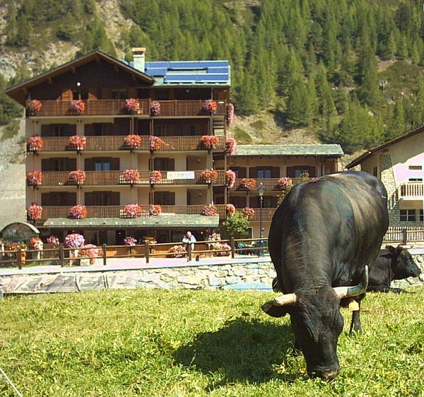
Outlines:
[[[155,85],[230,86],[228,61],[152,61],[146,73],[155,77]]]

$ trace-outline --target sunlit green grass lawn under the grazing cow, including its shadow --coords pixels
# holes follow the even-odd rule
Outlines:
[[[424,288],[367,294],[341,374],[309,379],[272,292],[102,290],[0,299],[0,367],[24,397],[424,396]],[[0,396],[15,396],[0,375]]]

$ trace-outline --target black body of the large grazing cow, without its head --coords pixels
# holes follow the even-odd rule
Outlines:
[[[370,174],[339,172],[295,185],[269,231],[283,291],[311,282],[354,285],[378,256],[388,223],[387,191]]]

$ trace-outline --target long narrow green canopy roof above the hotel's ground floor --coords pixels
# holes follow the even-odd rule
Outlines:
[[[146,218],[48,218],[44,227],[217,227],[219,216],[162,214]]]

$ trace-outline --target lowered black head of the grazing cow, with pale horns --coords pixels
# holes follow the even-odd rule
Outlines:
[[[293,333],[305,356],[310,377],[331,380],[338,375],[337,342],[343,331],[340,300],[363,294],[367,284],[366,269],[363,280],[355,287],[323,285],[306,288],[277,297],[262,306],[270,316],[290,314]]]

